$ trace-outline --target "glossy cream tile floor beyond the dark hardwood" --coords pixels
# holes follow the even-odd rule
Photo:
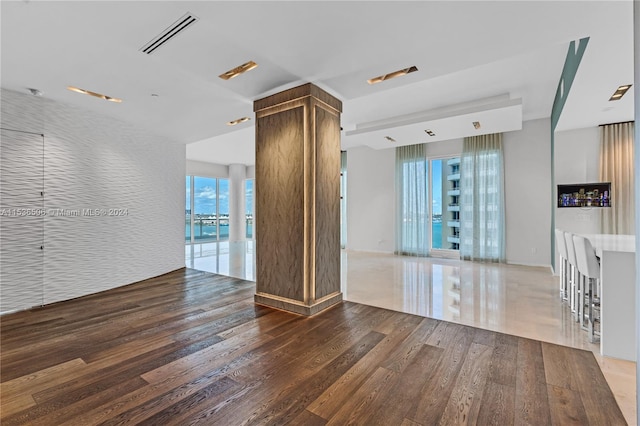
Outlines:
[[[254,242],[187,245],[189,268],[255,281]],[[593,351],[629,424],[636,424],[635,366],[599,345],[559,300],[548,268],[342,252],[345,300]]]

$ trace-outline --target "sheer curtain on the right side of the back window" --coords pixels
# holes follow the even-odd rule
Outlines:
[[[460,257],[505,261],[502,134],[464,139],[460,161]]]

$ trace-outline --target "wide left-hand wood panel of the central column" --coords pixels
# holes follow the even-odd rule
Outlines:
[[[257,291],[304,301],[304,108],[258,118]]]

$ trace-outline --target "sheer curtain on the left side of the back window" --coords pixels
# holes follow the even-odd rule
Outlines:
[[[396,148],[396,253],[429,253],[426,145]]]

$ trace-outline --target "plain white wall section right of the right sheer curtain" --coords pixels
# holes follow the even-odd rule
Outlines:
[[[551,122],[525,121],[503,135],[507,263],[549,266]]]

